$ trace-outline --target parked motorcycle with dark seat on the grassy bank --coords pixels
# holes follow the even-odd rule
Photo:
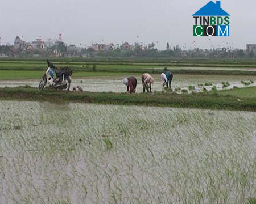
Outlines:
[[[69,67],[63,67],[57,69],[53,63],[48,63],[48,69],[46,73],[43,75],[38,89],[42,91],[44,88],[55,88],[60,90],[68,91],[71,86],[71,75],[73,71]]]

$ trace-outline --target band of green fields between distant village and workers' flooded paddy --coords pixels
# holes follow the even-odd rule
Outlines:
[[[159,74],[170,70],[174,74],[191,75],[256,75],[255,60],[222,59],[83,59],[55,58],[57,67],[69,66],[73,77],[118,75],[119,73]],[[94,67],[94,68],[93,68]],[[39,79],[47,69],[43,58],[10,58],[0,60],[0,80]],[[94,73],[94,74],[93,74]],[[105,73],[105,74],[102,74]]]

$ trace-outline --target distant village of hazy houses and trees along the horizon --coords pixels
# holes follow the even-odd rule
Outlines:
[[[156,42],[157,44],[158,42]],[[81,44],[80,44],[81,45]],[[158,46],[157,46],[158,47]],[[255,58],[256,44],[247,44],[246,49],[234,49],[233,46],[221,46],[210,49],[196,48],[195,41],[191,47],[170,46],[166,43],[165,50],[158,50],[155,43],[139,44],[135,42],[96,43],[91,46],[67,45],[61,35],[59,39],[44,41],[39,37],[35,41],[27,42],[23,37],[16,36],[13,45],[0,45],[0,57],[170,57],[170,58]]]

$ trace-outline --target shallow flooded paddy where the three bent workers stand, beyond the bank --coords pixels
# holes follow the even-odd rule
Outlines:
[[[128,75],[129,76],[129,75]],[[137,92],[143,92],[141,75],[135,75],[137,77]],[[159,75],[152,75],[155,78],[155,83],[152,86],[152,91],[163,91],[162,81]],[[102,76],[102,78],[73,78],[72,86],[81,86],[84,91],[90,92],[126,92],[126,87],[123,85],[123,78],[127,75],[118,76]],[[252,80],[256,82],[256,76],[225,76],[225,75],[174,75],[172,81],[172,89],[176,88],[188,89],[188,86],[196,86],[195,91],[201,91],[203,87],[197,87],[198,84],[212,83],[217,87],[217,90],[222,89],[222,82],[229,82],[230,87],[233,86],[243,87],[241,81],[249,82]],[[31,86],[38,87],[38,80],[0,80],[0,87],[18,87],[18,86]],[[251,84],[256,86],[256,83]],[[206,87],[208,90],[212,86]]]

